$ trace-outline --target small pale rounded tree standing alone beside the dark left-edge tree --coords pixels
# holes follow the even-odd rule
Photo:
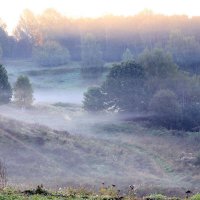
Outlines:
[[[14,101],[20,107],[29,107],[33,103],[33,89],[27,76],[19,76],[14,85]]]

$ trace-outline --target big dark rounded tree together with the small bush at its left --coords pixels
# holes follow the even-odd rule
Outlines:
[[[86,110],[140,111],[145,107],[144,69],[134,61],[114,65],[102,86],[85,93]]]

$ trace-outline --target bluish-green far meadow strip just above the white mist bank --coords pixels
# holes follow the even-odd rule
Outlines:
[[[38,89],[84,89],[101,84],[108,72],[98,80],[85,80],[80,73],[80,62],[70,62],[58,67],[41,67],[31,60],[8,60],[4,63],[11,84],[19,75],[28,75],[34,90]],[[64,91],[63,91],[64,92]]]

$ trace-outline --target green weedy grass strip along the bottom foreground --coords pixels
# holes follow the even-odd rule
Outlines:
[[[176,196],[169,197],[160,193],[138,197],[134,190],[121,194],[121,191],[115,185],[109,187],[102,186],[99,191],[92,191],[84,187],[48,191],[41,188],[38,190],[38,187],[40,186],[37,186],[36,189],[25,191],[5,188],[0,191],[0,200],[200,200],[200,194],[198,193],[189,198],[186,198],[186,196],[182,196],[181,198]]]

